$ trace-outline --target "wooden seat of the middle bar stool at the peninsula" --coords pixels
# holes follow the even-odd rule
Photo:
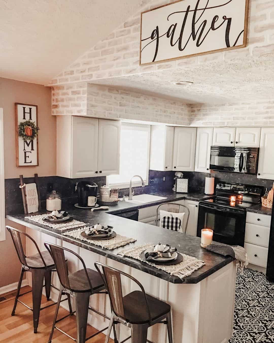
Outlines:
[[[87,268],[89,280],[92,284],[93,291],[105,289],[102,276],[95,270]],[[85,269],[78,270],[69,276],[70,288],[75,293],[91,292],[90,283],[87,280]]]

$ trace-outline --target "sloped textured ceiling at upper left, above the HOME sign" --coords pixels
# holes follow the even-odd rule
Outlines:
[[[0,0],[0,77],[48,84],[142,0]]]

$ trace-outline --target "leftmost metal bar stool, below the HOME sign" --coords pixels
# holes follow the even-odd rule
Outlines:
[[[22,263],[20,280],[18,282],[17,293],[16,293],[16,297],[15,297],[15,301],[14,301],[14,307],[13,307],[11,315],[12,316],[15,315],[15,309],[17,306],[17,302],[19,301],[19,303],[26,306],[29,310],[33,311],[34,333],[37,333],[40,310],[43,310],[45,308],[48,308],[50,306],[57,304],[57,303],[53,303],[53,304],[50,304],[48,306],[41,308],[41,299],[42,299],[43,287],[45,287],[45,290],[46,290],[47,300],[50,300],[51,287],[53,287],[59,291],[58,288],[51,285],[51,273],[52,273],[52,271],[56,271],[55,265],[54,265],[54,262],[50,256],[49,252],[48,251],[42,251],[41,252],[40,249],[38,248],[35,240],[32,237],[30,237],[25,232],[22,232],[18,229],[15,229],[11,226],[6,226],[6,228],[9,231],[9,233],[11,234],[11,238],[13,240],[13,244],[14,244],[15,250],[17,252],[17,256],[18,256],[20,262]],[[28,256],[28,257],[25,255],[20,234],[24,235],[25,237],[27,237],[28,239],[30,239],[33,242],[33,244],[35,245],[35,247],[37,249],[37,253],[35,255]],[[23,275],[25,272],[31,272],[32,273],[32,290],[29,292],[25,292],[23,294],[20,294]],[[45,279],[45,285],[43,285],[44,279]],[[32,292],[33,308],[30,308],[28,305],[23,303],[23,301],[20,301],[18,299],[22,295],[25,295],[25,294],[30,293],[30,292]],[[67,299],[63,299],[62,301],[65,301],[65,300],[69,301],[70,311],[72,312],[70,297],[68,296]]]

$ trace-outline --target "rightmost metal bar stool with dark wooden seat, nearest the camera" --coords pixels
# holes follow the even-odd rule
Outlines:
[[[115,324],[118,323],[131,329],[131,336],[120,343],[126,342],[130,338],[132,343],[152,343],[147,339],[147,332],[149,327],[157,323],[167,325],[169,343],[173,343],[170,305],[146,294],[144,287],[133,276],[103,263],[95,262],[99,273],[101,273],[99,266],[103,270],[101,275],[109,293],[112,309],[105,343],[109,341],[112,327],[115,328]],[[134,291],[123,296],[121,274],[133,280],[141,291]]]

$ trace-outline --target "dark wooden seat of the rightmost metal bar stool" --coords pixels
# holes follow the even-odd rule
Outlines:
[[[169,304],[148,294],[147,300],[152,321],[166,315],[171,310]],[[146,300],[141,291],[134,291],[125,295],[123,297],[123,304],[127,321],[132,324],[145,324],[149,322]]]

